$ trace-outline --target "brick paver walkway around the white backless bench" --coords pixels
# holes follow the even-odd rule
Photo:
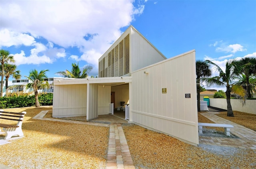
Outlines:
[[[216,116],[218,112],[201,113],[206,118],[218,124],[231,124],[234,128],[230,129],[230,133],[236,135],[238,138],[223,138],[213,136],[199,136],[200,144],[218,145],[224,147],[239,147],[246,149],[256,149],[256,132],[245,128],[239,124],[230,122],[224,118]]]

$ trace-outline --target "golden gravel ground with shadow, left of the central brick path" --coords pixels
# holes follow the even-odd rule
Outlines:
[[[32,119],[42,110],[49,108],[25,110],[22,124],[25,137],[0,146],[1,164],[15,169],[106,167],[108,127]],[[20,109],[9,111],[20,112]]]

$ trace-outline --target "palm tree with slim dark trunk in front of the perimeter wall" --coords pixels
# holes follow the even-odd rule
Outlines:
[[[244,90],[242,86],[235,85],[233,83],[235,77],[237,77],[237,75],[239,74],[237,68],[237,61],[235,59],[230,59],[229,61],[227,61],[225,71],[222,71],[222,69],[212,61],[207,60],[206,62],[213,65],[218,71],[219,75],[210,78],[202,78],[202,81],[205,81],[208,85],[226,86],[227,116],[234,117],[234,113],[230,103],[231,92],[234,92],[236,97],[242,98],[244,100],[243,104],[245,103],[247,96],[246,90]]]

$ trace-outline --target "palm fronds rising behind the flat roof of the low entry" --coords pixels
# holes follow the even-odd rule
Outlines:
[[[60,75],[62,77],[69,77],[69,78],[87,78],[88,73],[92,70],[92,66],[86,65],[83,67],[83,70],[81,72],[79,65],[77,63],[72,63],[72,70],[71,71],[62,71],[62,72],[57,72],[55,75]],[[82,73],[82,74],[81,74]]]

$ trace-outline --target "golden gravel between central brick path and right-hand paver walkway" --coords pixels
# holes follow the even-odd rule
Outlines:
[[[189,145],[134,124],[123,125],[137,169],[255,169],[256,150]]]

